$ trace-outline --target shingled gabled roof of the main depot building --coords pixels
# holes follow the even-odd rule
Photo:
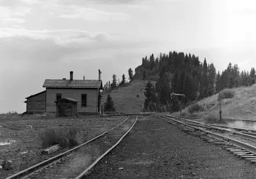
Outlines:
[[[102,80],[50,80],[46,79],[43,87],[46,88],[100,88]]]

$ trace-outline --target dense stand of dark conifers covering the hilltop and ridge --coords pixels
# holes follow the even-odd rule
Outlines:
[[[228,63],[227,68],[216,75],[216,69],[213,63],[207,63],[206,58],[200,62],[199,57],[194,54],[184,54],[183,52],[170,51],[169,53],[160,53],[155,58],[151,54],[142,60],[143,71],[148,71],[151,75],[158,75],[155,90],[158,93],[159,102],[161,102],[161,77],[166,74],[171,77],[171,92],[186,93],[186,103],[188,101],[200,100],[217,93],[228,87],[249,86],[255,84],[255,69],[252,72],[241,71],[237,64]],[[140,74],[143,75],[143,74]],[[189,88],[192,86],[192,88]],[[163,89],[162,89],[163,90]],[[176,103],[177,100],[173,103]],[[158,103],[158,102],[157,102]],[[162,103],[166,104],[166,103]],[[173,109],[175,110],[175,104]]]

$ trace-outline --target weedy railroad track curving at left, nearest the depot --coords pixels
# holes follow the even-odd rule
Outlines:
[[[102,157],[110,152],[130,132],[138,115],[129,117],[107,132],[47,159],[39,164],[11,175],[6,179],[81,179]]]

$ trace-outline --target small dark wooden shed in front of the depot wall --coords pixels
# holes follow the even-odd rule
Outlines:
[[[54,101],[57,117],[77,117],[77,102],[78,100],[71,98],[61,98]]]

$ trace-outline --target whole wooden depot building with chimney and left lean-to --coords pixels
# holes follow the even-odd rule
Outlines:
[[[63,106],[61,108],[62,103],[68,108],[65,115],[70,115],[70,107],[67,107],[70,104],[72,114],[100,113],[100,89],[102,89],[100,70],[98,75],[98,80],[85,80],[84,77],[83,80],[74,80],[73,71],[70,71],[70,79],[46,79],[43,84],[45,91],[26,98],[27,113],[51,112],[64,115],[64,112],[61,112],[61,109],[64,109]]]

